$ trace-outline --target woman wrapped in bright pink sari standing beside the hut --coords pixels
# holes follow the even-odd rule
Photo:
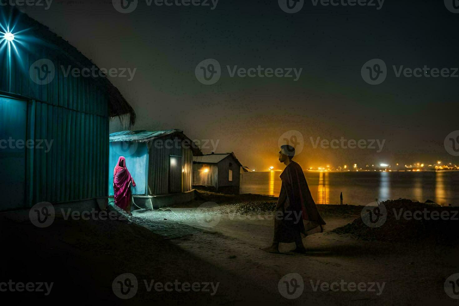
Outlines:
[[[126,159],[120,156],[118,163],[113,171],[113,191],[115,194],[115,204],[131,214],[131,182],[135,187],[134,179],[126,167]]]

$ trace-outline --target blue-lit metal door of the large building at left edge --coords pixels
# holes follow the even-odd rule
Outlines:
[[[0,97],[0,211],[24,206],[27,102]]]

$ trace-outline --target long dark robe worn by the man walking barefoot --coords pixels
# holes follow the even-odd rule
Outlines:
[[[274,217],[274,242],[290,243],[323,231],[325,221],[309,191],[301,166],[291,161],[280,174],[282,186]]]

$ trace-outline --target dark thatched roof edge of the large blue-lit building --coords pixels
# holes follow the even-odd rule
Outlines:
[[[32,28],[34,32],[38,32],[40,39],[45,40],[47,43],[61,50],[62,53],[69,58],[74,64],[84,67],[97,67],[93,61],[84,56],[77,48],[70,45],[67,40],[53,33],[50,28],[41,24],[40,22],[29,17],[27,14],[18,11],[16,8],[12,9],[13,16],[19,18],[21,24]],[[13,20],[16,18],[12,18]],[[97,67],[99,69],[99,67]],[[118,88],[116,88],[108,78],[92,78],[95,82],[99,82],[101,86],[105,88],[105,92],[109,99],[109,115],[110,117],[119,117],[122,120],[122,116],[129,114],[129,125],[135,123],[135,112],[132,106],[129,105],[128,101],[124,99]]]

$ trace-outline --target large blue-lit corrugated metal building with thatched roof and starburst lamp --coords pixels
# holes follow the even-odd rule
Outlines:
[[[106,77],[63,72],[95,67],[67,41],[0,11],[0,211],[108,196],[109,120],[134,110]]]

